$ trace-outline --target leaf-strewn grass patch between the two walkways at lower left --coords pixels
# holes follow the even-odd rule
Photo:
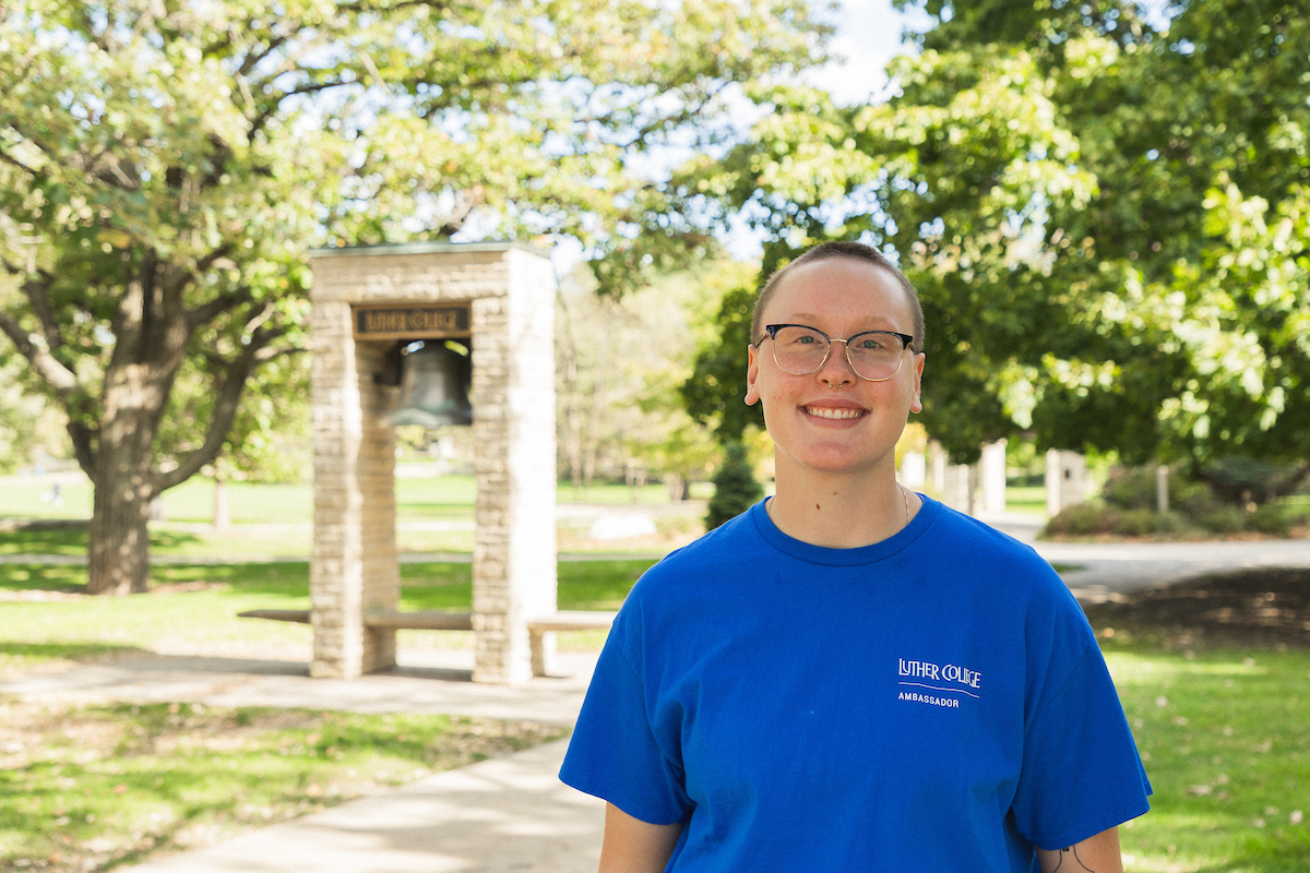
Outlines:
[[[105,870],[563,736],[417,715],[0,700],[0,870]]]

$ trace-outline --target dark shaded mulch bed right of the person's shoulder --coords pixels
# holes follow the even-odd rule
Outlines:
[[[1123,631],[1174,647],[1310,649],[1310,569],[1251,569],[1085,603],[1100,636]]]

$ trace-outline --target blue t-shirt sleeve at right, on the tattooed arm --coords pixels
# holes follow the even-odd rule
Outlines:
[[[1073,846],[1145,813],[1151,793],[1095,643],[1034,716],[1023,743],[1015,826],[1034,846]]]

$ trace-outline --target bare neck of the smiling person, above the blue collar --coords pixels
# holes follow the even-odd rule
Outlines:
[[[789,475],[779,466],[769,517],[794,539],[825,548],[859,548],[888,539],[918,512],[918,495],[888,475]],[[908,507],[907,507],[908,504]]]

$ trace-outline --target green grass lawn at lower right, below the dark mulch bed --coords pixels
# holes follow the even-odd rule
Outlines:
[[[1310,653],[1106,649],[1155,789],[1125,869],[1310,870]]]

